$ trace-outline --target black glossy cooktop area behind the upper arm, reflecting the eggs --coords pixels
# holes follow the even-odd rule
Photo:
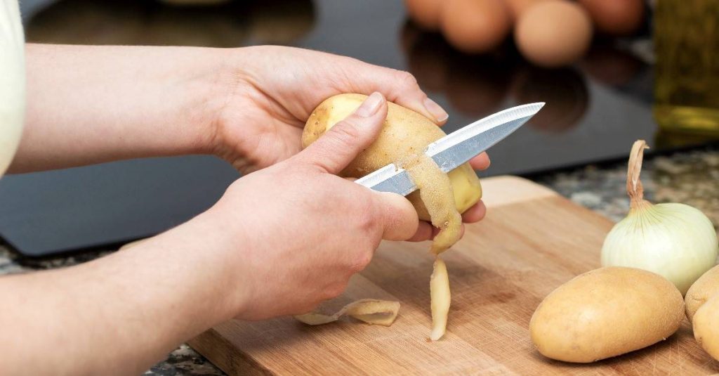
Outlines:
[[[654,140],[651,66],[595,43],[582,62],[535,68],[511,43],[490,55],[457,53],[408,22],[402,1],[231,1],[177,7],[158,1],[65,0],[26,16],[28,40],[237,47],[278,43],[411,71],[449,112],[447,131],[500,109],[547,102],[492,149],[487,174],[525,174],[625,156]],[[625,43],[626,44],[626,43]]]

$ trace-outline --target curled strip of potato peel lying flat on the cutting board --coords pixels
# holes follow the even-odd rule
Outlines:
[[[308,325],[322,325],[337,321],[342,315],[348,315],[357,318],[359,321],[365,321],[365,323],[390,326],[395,322],[399,311],[399,302],[362,299],[345,305],[341,310],[331,315],[311,312],[305,313],[304,315],[296,315],[295,318]]]

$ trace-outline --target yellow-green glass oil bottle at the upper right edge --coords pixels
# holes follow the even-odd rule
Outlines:
[[[654,118],[662,131],[719,135],[719,0],[658,0]]]

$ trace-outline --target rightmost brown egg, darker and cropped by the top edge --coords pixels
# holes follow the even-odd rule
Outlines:
[[[644,0],[580,0],[597,30],[609,35],[630,35],[644,20]]]

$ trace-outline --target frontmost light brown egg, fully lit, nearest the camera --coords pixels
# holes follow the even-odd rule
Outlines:
[[[592,23],[582,6],[565,0],[546,0],[519,17],[514,40],[532,63],[557,67],[574,63],[592,41]]]

